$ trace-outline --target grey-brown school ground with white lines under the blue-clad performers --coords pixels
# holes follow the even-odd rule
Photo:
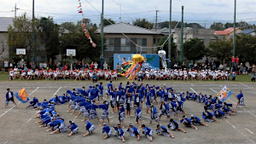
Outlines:
[[[104,89],[106,89],[107,81],[103,83]],[[115,86],[118,85],[118,82],[113,82]],[[147,84],[147,82],[144,82]],[[166,83],[166,84],[164,84]],[[66,133],[57,133],[55,135],[49,135],[49,132],[45,132],[44,128],[39,128],[35,122],[39,118],[33,118],[38,111],[34,111],[31,108],[25,108],[27,104],[19,103],[18,107],[15,107],[14,104],[9,105],[7,108],[4,107],[5,93],[6,89],[10,88],[14,93],[18,92],[21,88],[26,88],[27,94],[31,97],[38,97],[39,101],[44,99],[49,100],[54,95],[62,95],[66,93],[67,89],[81,88],[85,86],[87,89],[90,82],[3,82],[1,84],[1,102],[0,102],[0,143],[1,144],[29,144],[29,143],[48,143],[48,144],[79,144],[79,143],[120,143],[121,141],[117,137],[111,137],[108,140],[102,140],[102,128],[99,127],[96,119],[91,120],[93,124],[96,125],[96,130],[94,130],[92,135],[88,137],[83,137],[82,135],[86,132],[84,128],[84,122],[82,122],[82,116],[80,118],[74,118],[79,111],[75,112],[74,115],[71,115],[71,112],[67,112],[67,104],[55,106],[56,112],[58,112],[61,117],[65,118],[66,124],[69,120],[73,120],[76,124],[79,125],[79,133],[67,136],[70,133],[68,130]],[[168,138],[163,135],[155,135],[156,123],[153,121],[152,124],[148,124],[149,119],[148,115],[145,114],[143,110],[143,124],[146,124],[150,129],[154,130],[154,141],[151,143],[255,143],[256,142],[256,84],[255,83],[233,83],[233,82],[219,82],[217,83],[196,83],[196,82],[184,82],[176,83],[172,81],[163,82],[163,81],[150,81],[150,85],[166,85],[172,86],[173,89],[176,89],[177,92],[196,92],[202,93],[203,95],[216,95],[220,91],[224,84],[230,88],[230,90],[237,95],[239,89],[242,89],[243,95],[245,97],[245,104],[247,108],[237,107],[236,116],[230,116],[230,118],[220,118],[218,123],[215,122],[204,122],[207,123],[206,126],[198,126],[198,130],[192,128],[185,128],[183,124],[180,124],[180,128],[186,130],[187,133],[184,134],[181,131],[172,131],[172,135],[175,138]],[[104,90],[105,91],[105,90]],[[104,99],[108,99],[104,96]],[[159,100],[159,98],[158,98]],[[102,101],[101,101],[102,102]],[[237,100],[234,95],[231,95],[230,98],[226,101],[227,103],[236,104]],[[156,105],[154,103],[154,105]],[[145,104],[143,104],[143,108]],[[156,106],[159,110],[159,107]],[[232,107],[234,108],[234,106]],[[191,114],[201,118],[201,112],[203,110],[203,104],[197,103],[196,101],[185,101],[183,109],[187,112],[187,116],[190,117]],[[118,124],[118,112],[114,114],[111,113],[109,109],[109,118],[110,126],[113,128],[113,125]],[[97,110],[99,118],[101,118],[101,110]],[[211,111],[210,111],[211,112]],[[181,116],[182,114],[179,113]],[[174,117],[174,120],[178,121],[177,117]],[[169,119],[166,119],[165,116],[161,118],[160,124],[166,126]],[[134,111],[131,111],[131,118],[125,118],[125,127],[128,124],[135,124]],[[135,126],[138,127],[137,124]],[[141,140],[137,141],[136,138],[131,137],[129,133],[125,131],[125,143],[148,143],[148,139],[142,134],[141,130]],[[150,143],[150,142],[149,142]]]

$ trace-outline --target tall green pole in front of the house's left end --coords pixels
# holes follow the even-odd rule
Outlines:
[[[102,38],[102,50],[101,50],[101,68],[103,69],[103,63],[104,63],[104,33],[103,33],[103,27],[104,27],[104,0],[102,0],[102,24],[101,24],[101,38]]]

